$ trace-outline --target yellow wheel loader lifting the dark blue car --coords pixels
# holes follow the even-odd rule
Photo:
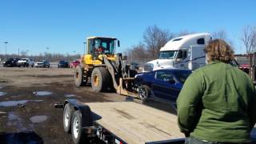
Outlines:
[[[137,97],[134,91],[135,70],[126,64],[126,56],[116,54],[117,38],[90,37],[80,66],[74,70],[76,86],[85,86],[90,80],[94,91],[114,89],[118,94]]]

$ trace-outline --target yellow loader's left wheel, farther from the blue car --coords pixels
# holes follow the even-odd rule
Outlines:
[[[76,66],[74,69],[74,83],[76,86],[85,86],[87,83],[87,77],[84,77],[85,71],[82,66]]]

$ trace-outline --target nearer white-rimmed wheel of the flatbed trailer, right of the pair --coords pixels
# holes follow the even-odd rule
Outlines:
[[[76,144],[86,143],[86,134],[82,130],[82,117],[79,110],[74,111],[71,122],[71,134],[73,142]]]

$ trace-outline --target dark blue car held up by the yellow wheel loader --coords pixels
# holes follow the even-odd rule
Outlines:
[[[146,98],[161,98],[176,102],[180,90],[191,70],[162,69],[136,75],[138,94],[142,100]]]

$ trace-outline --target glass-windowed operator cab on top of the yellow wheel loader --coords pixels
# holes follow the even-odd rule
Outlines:
[[[97,57],[99,54],[115,54],[117,38],[101,38],[101,37],[90,37],[87,38],[87,54]]]

